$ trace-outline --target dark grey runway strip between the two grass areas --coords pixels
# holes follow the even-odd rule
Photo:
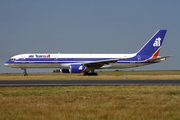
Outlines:
[[[180,80],[1,80],[0,87],[180,85]]]

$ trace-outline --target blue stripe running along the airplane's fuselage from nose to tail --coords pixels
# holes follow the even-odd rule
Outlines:
[[[147,63],[144,62],[150,56],[138,55],[127,59],[117,61],[117,63]],[[16,61],[7,61],[8,64],[63,64],[63,63],[82,63],[95,62],[101,60],[112,60],[118,58],[19,58]]]

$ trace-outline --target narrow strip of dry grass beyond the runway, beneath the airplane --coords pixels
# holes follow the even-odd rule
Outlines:
[[[98,72],[98,76],[70,73],[1,73],[0,80],[180,80],[180,70]]]

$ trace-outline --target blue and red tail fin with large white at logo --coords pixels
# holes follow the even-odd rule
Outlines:
[[[151,39],[137,52],[137,55],[145,55],[151,58],[157,58],[161,49],[167,30],[158,30]]]

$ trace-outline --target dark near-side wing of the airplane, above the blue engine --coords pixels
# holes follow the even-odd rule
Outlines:
[[[115,63],[120,59],[110,59],[110,60],[100,60],[100,61],[93,61],[93,62],[84,62],[83,64],[87,67],[94,67],[94,68],[100,68],[104,65],[109,65],[109,63]]]

